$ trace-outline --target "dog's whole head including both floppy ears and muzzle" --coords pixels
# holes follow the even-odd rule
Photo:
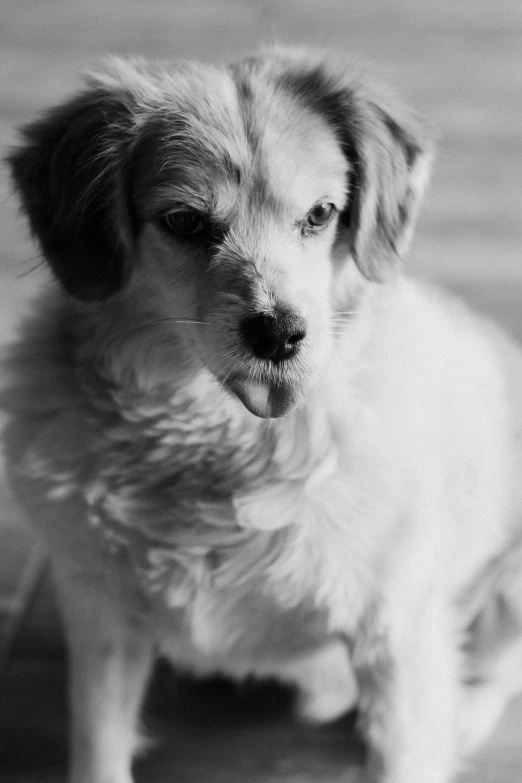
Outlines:
[[[14,180],[69,294],[153,291],[262,417],[321,374],[354,270],[379,281],[404,254],[430,157],[353,66],[285,50],[229,68],[111,60],[24,135]]]

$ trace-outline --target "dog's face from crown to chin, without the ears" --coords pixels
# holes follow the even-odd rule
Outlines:
[[[220,382],[253,413],[280,416],[331,349],[348,163],[327,122],[291,96],[252,79],[241,102],[230,75],[197,77],[135,151],[136,276],[156,280],[165,312],[202,322],[186,332]]]

